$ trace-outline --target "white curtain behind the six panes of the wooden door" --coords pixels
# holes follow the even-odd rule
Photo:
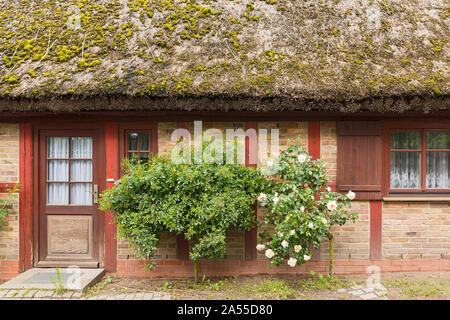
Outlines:
[[[92,159],[92,138],[71,138],[71,159]],[[47,140],[47,204],[68,205],[69,183],[69,138],[51,137]],[[92,160],[70,162],[70,204],[92,204]],[[75,183],[74,183],[75,182]],[[79,182],[79,183],[76,183]]]

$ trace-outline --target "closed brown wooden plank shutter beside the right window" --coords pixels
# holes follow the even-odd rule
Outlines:
[[[337,188],[359,200],[382,198],[382,136],[379,121],[340,121]]]

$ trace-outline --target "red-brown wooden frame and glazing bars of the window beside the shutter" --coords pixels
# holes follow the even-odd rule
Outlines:
[[[427,152],[450,152],[450,149],[427,149],[427,132],[450,132],[448,127],[446,128],[389,128],[387,131],[386,141],[386,165],[387,165],[387,193],[389,195],[401,195],[401,194],[416,194],[416,195],[442,195],[449,194],[450,188],[447,189],[430,189],[426,187],[426,166],[427,166]],[[420,133],[420,149],[391,149],[391,133],[393,132],[419,132]],[[420,188],[415,189],[393,189],[391,188],[391,152],[420,152]]]

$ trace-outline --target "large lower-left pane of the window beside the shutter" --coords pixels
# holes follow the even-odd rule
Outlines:
[[[420,152],[391,152],[391,188],[420,188]]]

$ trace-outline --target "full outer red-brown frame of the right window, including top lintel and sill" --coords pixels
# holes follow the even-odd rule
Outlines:
[[[432,123],[431,125],[416,124],[410,125],[395,125],[395,123],[390,123],[385,125],[385,183],[384,183],[384,195],[385,196],[450,196],[450,188],[447,189],[431,189],[426,187],[426,157],[427,152],[450,152],[450,149],[427,149],[426,143],[426,133],[427,132],[450,132],[450,124]],[[419,150],[409,150],[409,149],[396,149],[391,150],[391,133],[392,132],[419,132],[420,133],[420,149]],[[420,152],[420,188],[415,189],[393,189],[391,188],[391,152]]]

